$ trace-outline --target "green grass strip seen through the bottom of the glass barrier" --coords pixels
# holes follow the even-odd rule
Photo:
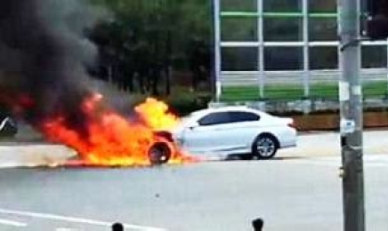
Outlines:
[[[386,82],[363,84],[364,98],[381,97],[387,93]],[[303,99],[303,86],[292,84],[266,85],[264,99],[268,100],[300,100]],[[312,84],[310,98],[338,99],[337,84]],[[258,86],[224,87],[222,101],[261,100]]]

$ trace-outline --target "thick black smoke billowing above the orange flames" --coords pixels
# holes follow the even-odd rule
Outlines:
[[[85,0],[3,0],[0,3],[0,96],[24,95],[33,104],[21,116],[38,125],[64,116],[82,131],[80,105],[92,92],[87,66],[96,57],[85,38],[96,17]],[[0,98],[1,99],[1,98]],[[14,103],[7,100],[7,103]]]

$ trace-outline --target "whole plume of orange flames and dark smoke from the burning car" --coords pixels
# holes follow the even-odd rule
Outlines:
[[[86,66],[93,65],[98,49],[84,31],[100,20],[93,5],[12,0],[1,6],[0,102],[47,141],[75,150],[77,160],[66,164],[149,166],[188,160],[154,132],[179,123],[165,103],[147,99],[134,108],[136,118],[128,119],[90,85]]]

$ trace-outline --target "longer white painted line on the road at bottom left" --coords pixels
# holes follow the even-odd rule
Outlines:
[[[101,227],[111,227],[111,225],[114,223],[114,222],[101,221],[97,219],[84,219],[84,218],[76,218],[76,217],[70,217],[70,216],[62,216],[62,215],[40,213],[40,212],[33,212],[33,211],[13,211],[13,210],[0,209],[0,213],[8,214],[8,215],[16,215],[21,217],[30,217],[30,218],[36,218],[36,219],[61,220],[61,221],[68,221],[72,223],[88,224],[88,225],[101,226]],[[125,223],[123,223],[123,226],[125,228],[136,229],[136,230],[147,230],[147,231],[166,231],[167,230],[166,228],[144,227],[144,226],[138,226],[138,225],[125,224]]]

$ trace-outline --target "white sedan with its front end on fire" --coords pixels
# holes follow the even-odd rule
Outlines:
[[[279,148],[295,147],[292,118],[271,116],[254,108],[199,110],[182,118],[171,139],[191,155],[270,159]]]

